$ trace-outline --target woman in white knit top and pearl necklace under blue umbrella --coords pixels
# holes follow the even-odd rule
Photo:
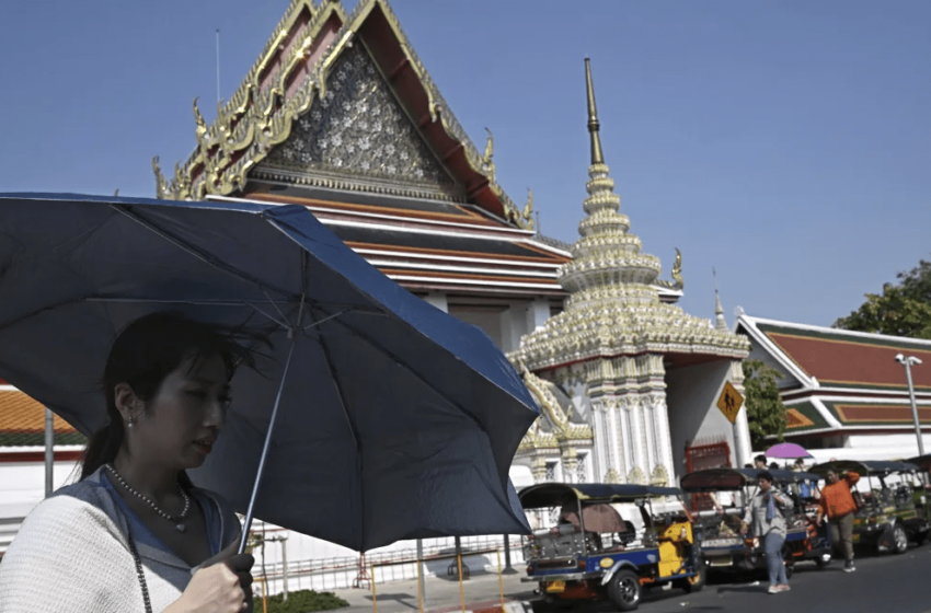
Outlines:
[[[108,423],[81,479],[36,506],[7,550],[0,611],[252,611],[239,519],[185,472],[222,430],[237,366],[254,365],[237,338],[172,313],[123,329],[103,373]]]

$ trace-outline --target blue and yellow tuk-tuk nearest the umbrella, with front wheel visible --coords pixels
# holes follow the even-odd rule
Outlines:
[[[621,611],[637,608],[644,587],[671,582],[687,592],[704,586],[705,567],[692,522],[675,487],[549,483],[518,495],[524,509],[549,510],[554,523],[525,537],[527,577],[545,602],[609,599]],[[677,497],[673,511],[654,500]],[[633,504],[636,530],[612,506]],[[669,507],[669,505],[664,505]]]

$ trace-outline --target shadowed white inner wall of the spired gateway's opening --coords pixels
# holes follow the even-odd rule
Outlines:
[[[719,438],[731,448],[731,463],[739,466],[734,427],[717,408],[717,398],[731,370],[731,360],[717,360],[666,372],[666,402],[676,476],[686,472],[686,447],[697,439]],[[742,413],[746,409],[742,408]]]

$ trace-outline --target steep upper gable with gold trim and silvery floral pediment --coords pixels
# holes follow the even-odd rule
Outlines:
[[[352,14],[292,0],[214,123],[196,100],[194,112],[197,146],[170,183],[153,160],[159,197],[242,196],[261,180],[469,203],[532,228],[532,206],[519,210],[495,181],[491,135],[480,154],[386,0]]]

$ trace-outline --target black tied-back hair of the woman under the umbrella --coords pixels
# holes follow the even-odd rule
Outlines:
[[[252,340],[253,347],[254,342],[264,340],[258,334],[204,324],[176,312],[145,315],[123,328],[110,349],[103,372],[108,421],[94,432],[84,449],[81,478],[113,462],[123,446],[125,431],[116,408],[117,384],[127,383],[137,398],[148,402],[154,397],[165,378],[192,356],[192,368],[202,360],[219,356],[229,381],[239,366],[255,368],[255,352],[242,344],[245,339]],[[180,475],[180,479],[182,485],[191,486],[185,473]]]

